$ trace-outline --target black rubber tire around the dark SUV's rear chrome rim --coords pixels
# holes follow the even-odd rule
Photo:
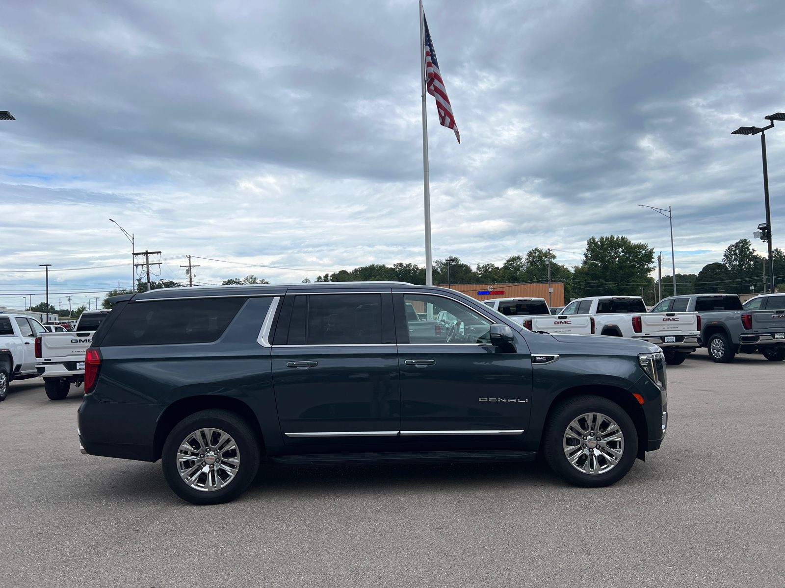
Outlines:
[[[198,490],[188,485],[180,475],[180,461],[177,458],[177,452],[181,443],[187,441],[187,438],[193,432],[207,428],[219,429],[228,434],[232,437],[239,450],[239,466],[234,477],[230,481],[225,482],[223,488],[210,491]],[[195,452],[198,452],[198,449],[195,449]],[[217,453],[216,455],[221,457],[224,454]],[[221,463],[220,459],[217,463]],[[201,464],[197,464],[194,460],[192,467],[198,465]],[[166,437],[166,443],[163,444],[161,453],[161,466],[169,487],[181,499],[199,505],[228,503],[242,494],[248,488],[248,485],[254,481],[254,477],[256,477],[259,470],[259,441],[256,434],[254,434],[254,430],[235,412],[218,409],[195,412],[191,416],[182,419],[180,423],[177,423],[169,437]],[[208,476],[217,476],[217,467],[215,474],[213,474],[213,469],[210,468],[210,474],[206,474],[203,477],[200,474],[199,479],[214,479],[208,478]]]

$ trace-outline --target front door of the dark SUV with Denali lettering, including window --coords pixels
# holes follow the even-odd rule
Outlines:
[[[436,317],[396,323],[402,440],[481,441],[484,431],[526,429],[531,355],[523,339],[517,353],[503,353],[490,344],[492,321],[455,299],[427,294],[394,298],[396,316],[405,318],[411,305]],[[440,315],[450,321],[441,323]]]

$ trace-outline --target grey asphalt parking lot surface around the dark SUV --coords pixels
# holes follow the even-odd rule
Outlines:
[[[160,463],[82,456],[81,389],[0,404],[3,586],[782,586],[785,362],[668,369],[659,452],[611,488],[539,463],[262,466],[192,506]]]

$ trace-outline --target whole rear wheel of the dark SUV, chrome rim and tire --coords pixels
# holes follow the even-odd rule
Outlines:
[[[228,410],[203,410],[174,426],[163,445],[163,475],[173,492],[193,504],[237,498],[259,469],[254,431]]]

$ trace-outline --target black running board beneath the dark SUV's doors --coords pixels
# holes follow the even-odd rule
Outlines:
[[[487,463],[531,462],[535,452],[516,451],[447,451],[447,452],[379,452],[379,453],[315,453],[305,456],[270,456],[276,463],[290,466],[334,465],[354,463]]]

